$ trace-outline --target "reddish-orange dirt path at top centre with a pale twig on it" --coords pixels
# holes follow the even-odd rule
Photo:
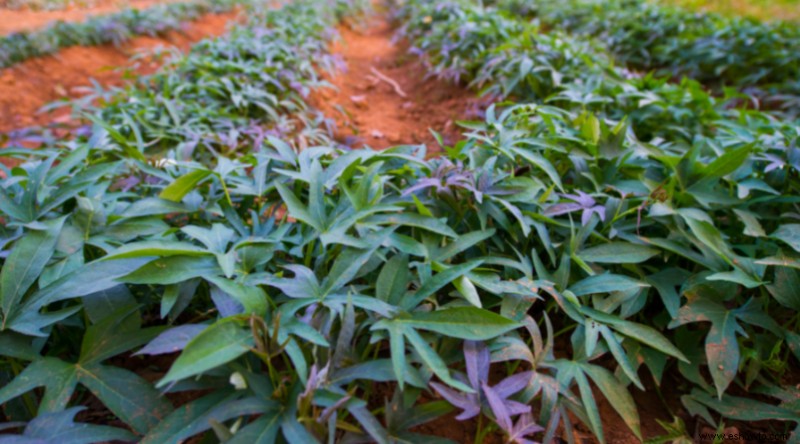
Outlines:
[[[382,17],[356,30],[342,27],[333,51],[346,71],[328,80],[336,90],[323,90],[312,104],[337,123],[337,139],[352,147],[381,149],[400,144],[438,145],[428,131],[440,132],[445,143],[458,140],[456,120],[475,118],[475,94],[433,78],[407,44],[393,43],[394,30]],[[396,83],[396,86],[392,83]]]

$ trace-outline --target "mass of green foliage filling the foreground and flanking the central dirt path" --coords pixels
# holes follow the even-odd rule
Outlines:
[[[336,66],[332,25],[363,8],[255,8],[99,92],[86,134],[2,152],[20,161],[0,182],[11,439],[58,422],[76,442],[446,442],[411,431],[451,410],[435,390],[490,419],[483,435],[549,442],[578,420],[603,441],[597,397],[641,437],[632,392],[667,372],[712,425],[746,406],[797,427],[796,122],[626,83],[591,45],[491,8],[420,1],[398,17],[432,71],[520,102],[463,122],[438,157],[350,150],[304,96]],[[645,84],[672,117],[597,92]],[[713,109],[682,127],[687,97]],[[124,365],[167,353],[154,382]],[[489,363],[507,373],[493,386]],[[75,422],[89,396],[130,431]]]

